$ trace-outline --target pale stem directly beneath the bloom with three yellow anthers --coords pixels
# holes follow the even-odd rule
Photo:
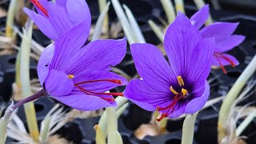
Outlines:
[[[194,138],[194,122],[198,112],[186,116],[182,126],[182,144],[192,144]]]

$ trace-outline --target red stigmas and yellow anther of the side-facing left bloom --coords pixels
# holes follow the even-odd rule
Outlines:
[[[69,74],[69,75],[67,75],[67,77],[72,79],[72,78],[74,78],[74,75]],[[120,80],[117,80],[117,79],[98,79],[98,80],[89,80],[89,81],[84,81],[84,82],[78,82],[78,83],[75,83],[74,86],[76,86],[79,90],[81,90],[83,93],[85,93],[87,95],[94,96],[94,94],[99,94],[99,95],[114,96],[114,97],[123,96],[122,93],[97,93],[97,92],[94,92],[94,91],[91,91],[91,90],[86,90],[85,88],[80,86],[82,84],[93,83],[93,82],[112,82],[112,83],[117,83],[119,85],[122,84],[122,82]],[[110,101],[110,102],[114,101],[113,97],[110,97],[110,98],[103,98],[103,97],[100,97],[100,96],[98,96],[98,97],[102,98],[106,101]]]

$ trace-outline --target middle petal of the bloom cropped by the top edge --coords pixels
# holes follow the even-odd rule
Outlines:
[[[54,26],[58,34],[64,34],[71,27],[75,26],[70,21],[66,7],[58,6],[54,2],[49,2],[48,9],[49,21]]]

